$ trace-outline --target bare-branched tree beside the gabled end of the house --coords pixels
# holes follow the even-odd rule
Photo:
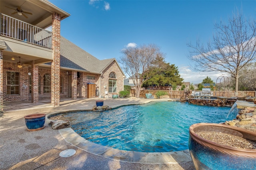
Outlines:
[[[136,88],[136,97],[140,97],[140,89],[148,77],[150,66],[157,56],[162,56],[160,48],[155,44],[142,45],[140,47],[128,47],[121,51],[120,63],[124,72],[132,77]]]

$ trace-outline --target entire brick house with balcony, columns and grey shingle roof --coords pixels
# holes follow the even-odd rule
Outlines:
[[[59,106],[60,97],[111,97],[123,90],[116,59],[99,60],[60,36],[67,12],[48,0],[0,0],[0,12],[1,100],[51,98]]]

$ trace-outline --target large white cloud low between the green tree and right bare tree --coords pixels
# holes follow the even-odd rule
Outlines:
[[[215,83],[218,77],[220,76],[227,76],[223,73],[217,72],[217,71],[211,71],[211,72],[195,72],[192,71],[189,66],[183,66],[179,67],[180,76],[184,79],[184,82],[190,82],[190,83],[202,83],[203,79],[205,79],[207,76],[210,77]],[[219,80],[218,80],[219,83]]]

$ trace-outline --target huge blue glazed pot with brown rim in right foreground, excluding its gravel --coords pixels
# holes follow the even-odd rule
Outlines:
[[[256,133],[238,127],[214,123],[198,123],[189,128],[188,147],[197,170],[255,170],[256,149],[242,149],[206,140],[197,132],[223,132],[256,140]]]

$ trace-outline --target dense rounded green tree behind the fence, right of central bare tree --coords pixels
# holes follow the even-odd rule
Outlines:
[[[173,84],[180,85],[184,80],[180,77],[178,67],[174,64],[166,63],[162,56],[156,57],[154,65],[150,67],[147,77],[150,78],[143,83],[142,87],[154,85],[157,89],[160,89],[160,86],[173,86]]]

